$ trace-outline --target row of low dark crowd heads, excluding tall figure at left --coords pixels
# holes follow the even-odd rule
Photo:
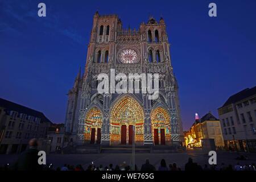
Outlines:
[[[9,170],[24,170],[24,168],[16,168],[11,167],[6,164],[4,167],[0,168],[1,170],[9,171]],[[141,168],[138,168],[135,164],[135,169],[131,168],[131,166],[127,165],[126,162],[123,162],[120,165],[113,166],[113,164],[109,164],[109,166],[95,166],[94,164],[90,164],[87,168],[83,168],[81,164],[73,166],[69,164],[64,164],[62,167],[54,168],[52,164],[43,165],[42,167],[31,166],[26,168],[26,170],[42,170],[42,171],[181,171],[180,167],[177,167],[176,163],[169,164],[167,166],[166,160],[162,159],[158,168],[155,168],[150,161],[146,159],[146,163],[142,164]],[[185,164],[183,169],[184,171],[256,171],[255,164],[251,165],[241,165],[237,163],[235,166],[225,165],[221,163],[218,165],[208,165],[205,164],[203,167],[199,164],[193,162],[192,158],[188,159],[188,162]]]

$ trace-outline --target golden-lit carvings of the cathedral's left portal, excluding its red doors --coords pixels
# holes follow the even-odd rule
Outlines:
[[[84,129],[85,140],[90,140],[90,134],[91,134],[92,128],[95,128],[97,131],[97,129],[101,128],[101,126],[102,126],[102,113],[100,109],[98,109],[97,107],[92,107],[92,109],[90,109],[85,116],[85,129]]]

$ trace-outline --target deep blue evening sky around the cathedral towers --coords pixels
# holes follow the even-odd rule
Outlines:
[[[39,18],[38,3],[47,6]],[[208,16],[210,2],[217,17]],[[67,93],[84,69],[92,18],[118,14],[138,28],[163,16],[184,129],[234,93],[256,85],[256,1],[0,0],[0,97],[64,122]]]

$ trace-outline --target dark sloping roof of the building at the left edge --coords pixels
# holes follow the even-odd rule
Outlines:
[[[13,110],[18,113],[32,115],[36,118],[40,118],[42,122],[52,123],[42,112],[34,109],[30,109],[26,106],[22,106],[11,101],[7,101],[3,98],[0,98],[0,107],[4,107],[6,110],[9,110],[9,111]]]

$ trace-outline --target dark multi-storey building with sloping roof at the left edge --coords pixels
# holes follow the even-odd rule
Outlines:
[[[46,151],[49,126],[51,121],[42,112],[0,98],[0,154],[19,154],[31,138]]]

